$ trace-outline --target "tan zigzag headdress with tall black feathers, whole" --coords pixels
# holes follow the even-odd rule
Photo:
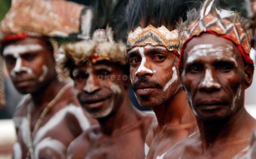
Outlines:
[[[199,0],[200,1],[200,0]],[[136,46],[164,46],[180,55],[176,26],[197,2],[187,0],[131,0],[127,7],[127,51]]]

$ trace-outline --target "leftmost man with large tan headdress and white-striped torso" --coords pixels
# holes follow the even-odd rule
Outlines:
[[[55,70],[58,43],[50,38],[78,32],[82,8],[58,0],[13,0],[1,22],[6,67],[16,89],[28,94],[14,115],[15,159],[66,159],[70,142],[90,126],[73,84]]]

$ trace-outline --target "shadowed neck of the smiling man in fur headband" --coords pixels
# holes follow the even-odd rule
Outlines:
[[[128,90],[125,90],[125,97],[119,109],[105,118],[98,119],[98,121],[102,132],[106,135],[111,135],[116,130],[129,127],[138,121],[137,110],[131,104]]]

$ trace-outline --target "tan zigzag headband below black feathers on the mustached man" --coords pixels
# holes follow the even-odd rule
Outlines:
[[[167,50],[180,56],[177,30],[170,32],[165,26],[161,26],[157,29],[151,25],[146,28],[139,26],[134,32],[129,33],[126,48],[129,51],[134,47],[146,46],[147,44],[152,46],[165,46]]]

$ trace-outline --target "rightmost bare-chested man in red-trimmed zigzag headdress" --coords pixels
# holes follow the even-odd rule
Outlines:
[[[214,0],[207,0],[180,26],[180,80],[199,131],[164,159],[232,159],[248,150],[256,125],[244,108],[254,68],[248,20],[215,7]]]

